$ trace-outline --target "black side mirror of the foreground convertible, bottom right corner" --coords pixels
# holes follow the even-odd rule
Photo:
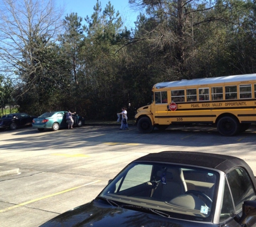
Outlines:
[[[239,224],[247,226],[249,223],[256,223],[256,201],[244,201],[243,214],[239,220]],[[250,224],[248,226],[251,226]]]

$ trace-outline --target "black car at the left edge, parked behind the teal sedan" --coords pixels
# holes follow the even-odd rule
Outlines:
[[[0,129],[10,128],[11,130],[17,127],[31,125],[33,118],[37,116],[30,116],[27,113],[10,113],[4,115],[0,119]]]

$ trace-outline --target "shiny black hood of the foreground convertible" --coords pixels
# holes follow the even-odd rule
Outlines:
[[[114,207],[105,202],[92,201],[61,214],[40,227],[199,227],[208,226],[205,223],[182,221],[166,218],[160,215]],[[218,225],[209,225],[218,226]]]

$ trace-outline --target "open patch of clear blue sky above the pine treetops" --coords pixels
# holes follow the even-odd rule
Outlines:
[[[91,17],[94,12],[93,6],[96,2],[96,0],[56,0],[57,5],[64,6],[65,15],[77,12],[78,16],[82,18],[85,18],[87,15]],[[128,0],[99,0],[99,2],[101,2],[102,10],[110,2],[114,6],[115,12],[119,11],[124,25],[128,29],[134,27],[134,22],[139,12],[135,12],[130,7]]]

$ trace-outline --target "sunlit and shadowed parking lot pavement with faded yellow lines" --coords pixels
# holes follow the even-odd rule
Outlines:
[[[201,151],[244,159],[256,175],[256,128],[223,137],[211,127],[173,127],[141,134],[136,126],[86,125],[39,132],[0,131],[1,227],[39,226],[91,201],[130,161],[160,151]]]

